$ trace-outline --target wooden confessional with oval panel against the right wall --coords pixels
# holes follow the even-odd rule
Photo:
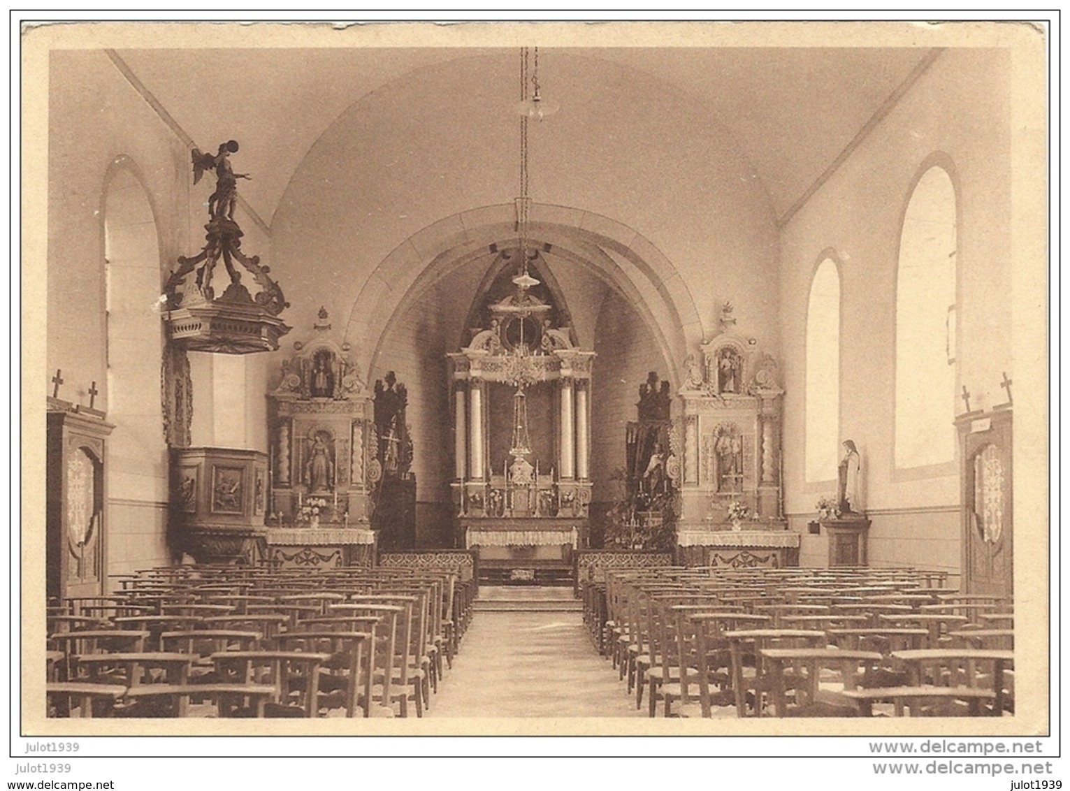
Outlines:
[[[963,589],[1010,596],[1013,591],[1012,420],[1009,409],[967,414],[963,437]]]

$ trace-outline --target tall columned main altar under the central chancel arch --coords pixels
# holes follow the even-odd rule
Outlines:
[[[591,367],[537,250],[506,249],[468,346],[448,356],[456,543],[485,573],[567,572],[591,503]],[[521,260],[524,259],[524,260]],[[509,277],[514,274],[515,276]]]

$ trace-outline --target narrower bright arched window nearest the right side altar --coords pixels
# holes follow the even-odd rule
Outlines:
[[[806,480],[836,478],[840,433],[840,273],[826,258],[810,284],[806,320]]]

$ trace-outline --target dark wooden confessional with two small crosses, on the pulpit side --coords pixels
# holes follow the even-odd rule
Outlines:
[[[48,412],[45,588],[49,597],[105,592],[105,440],[112,428],[95,414]]]

